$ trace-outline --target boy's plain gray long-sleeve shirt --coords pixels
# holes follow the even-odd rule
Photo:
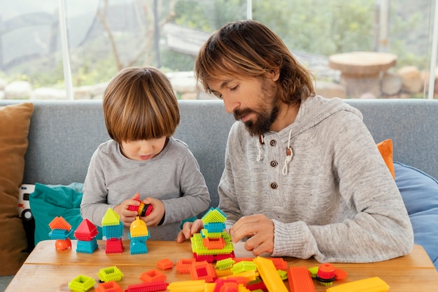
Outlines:
[[[188,146],[169,138],[155,158],[130,160],[114,140],[101,144],[92,155],[85,178],[80,214],[101,226],[108,208],[140,193],[140,199],[155,197],[166,210],[160,226],[149,227],[150,239],[174,240],[181,221],[209,207],[210,195],[197,160]],[[125,228],[127,238],[129,228]]]

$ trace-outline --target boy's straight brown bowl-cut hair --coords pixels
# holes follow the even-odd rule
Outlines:
[[[180,122],[166,75],[154,67],[122,69],[104,92],[106,130],[118,143],[171,137]]]

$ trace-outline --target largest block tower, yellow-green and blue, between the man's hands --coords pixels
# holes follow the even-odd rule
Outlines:
[[[215,260],[234,258],[231,236],[224,231],[226,219],[227,216],[220,209],[213,207],[202,216],[204,229],[190,239],[193,256],[197,261],[213,263]]]

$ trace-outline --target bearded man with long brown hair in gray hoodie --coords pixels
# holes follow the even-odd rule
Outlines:
[[[195,74],[236,120],[218,186],[233,242],[255,256],[364,263],[403,256],[414,233],[395,181],[341,99],[254,20],[229,23],[201,48]],[[186,223],[178,242],[202,228]]]

